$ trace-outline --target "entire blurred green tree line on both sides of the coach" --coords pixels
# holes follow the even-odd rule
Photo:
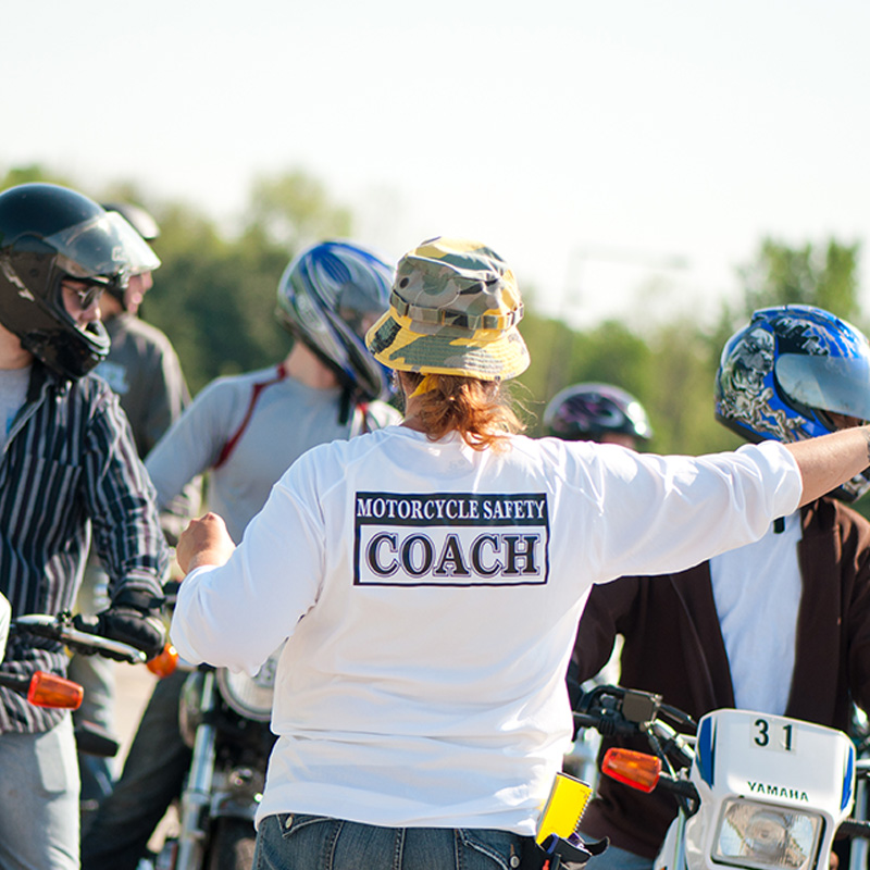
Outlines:
[[[136,202],[154,215],[161,235],[153,247],[163,264],[140,313],[175,345],[194,394],[219,375],[283,359],[290,339],[274,309],[284,268],[310,241],[353,237],[350,210],[301,170],[256,179],[235,233],[189,203],[157,201],[134,184],[87,190],[39,165],[10,170],[0,188],[28,181],[66,184],[98,201]],[[655,430],[650,449],[700,453],[735,447],[737,437],[712,413],[725,339],[756,308],[786,302],[818,304],[861,326],[859,253],[858,243],[834,238],[800,247],[765,238],[735,268],[739,301],[723,306],[713,325],[686,313],[643,335],[613,321],[572,330],[538,313],[534,294],[526,293],[521,331],[533,362],[514,393],[529,412],[530,433],[542,434],[544,407],[558,389],[599,381],[619,384],[645,406]]]

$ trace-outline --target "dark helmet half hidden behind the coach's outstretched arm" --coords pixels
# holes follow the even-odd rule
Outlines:
[[[611,384],[574,384],[557,393],[544,411],[544,426],[548,435],[569,442],[599,442],[608,433],[652,437],[641,402]]]

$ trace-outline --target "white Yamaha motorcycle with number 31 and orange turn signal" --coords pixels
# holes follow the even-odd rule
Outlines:
[[[601,772],[675,796],[655,870],[826,870],[835,835],[870,838],[870,823],[849,818],[868,766],[841,731],[725,709],[684,734],[678,726],[694,725],[685,713],[619,686],[594,688],[574,718],[602,734],[646,736],[651,754],[610,748]]]

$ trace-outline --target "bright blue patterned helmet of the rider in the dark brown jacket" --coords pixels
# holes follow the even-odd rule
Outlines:
[[[870,343],[812,306],[756,311],[725,344],[716,375],[716,418],[749,442],[815,438],[842,428],[831,414],[870,421]],[[832,495],[854,501],[865,472]]]

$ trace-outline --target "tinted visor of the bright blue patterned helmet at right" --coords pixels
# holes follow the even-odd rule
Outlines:
[[[783,353],[775,374],[785,393],[801,405],[870,421],[870,353]]]

